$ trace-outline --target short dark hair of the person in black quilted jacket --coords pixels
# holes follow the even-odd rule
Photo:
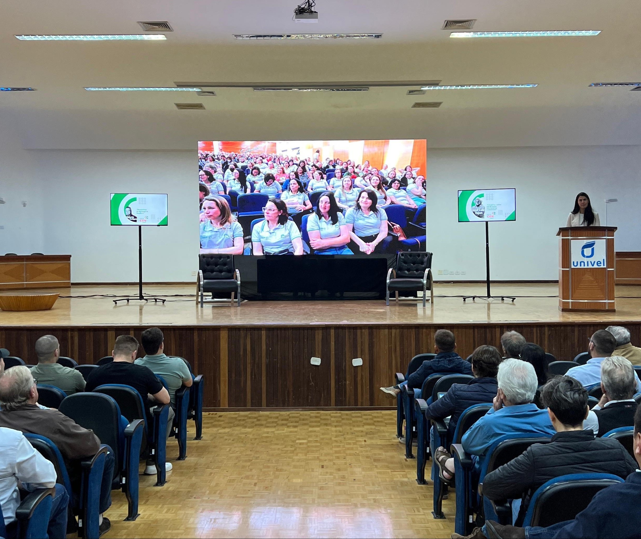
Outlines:
[[[555,376],[541,388],[541,402],[563,425],[578,427],[587,415],[588,391],[572,377]]]

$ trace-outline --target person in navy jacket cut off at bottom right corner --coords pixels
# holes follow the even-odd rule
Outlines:
[[[592,502],[574,520],[565,520],[552,526],[525,528],[501,526],[488,520],[490,538],[552,539],[559,538],[638,538],[641,534],[641,407],[635,414],[634,454],[637,471],[628,475],[625,483],[617,483],[597,492]]]

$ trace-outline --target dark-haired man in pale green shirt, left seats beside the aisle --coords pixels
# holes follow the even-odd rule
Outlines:
[[[176,389],[180,389],[181,386],[189,388],[194,383],[187,363],[180,357],[168,357],[164,354],[165,337],[160,328],[151,327],[144,330],[140,341],[147,355],[138,358],[135,363],[146,366],[156,376],[163,377],[167,382],[167,388],[169,388],[171,406],[175,408]]]

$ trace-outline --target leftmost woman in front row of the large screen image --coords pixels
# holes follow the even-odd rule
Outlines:
[[[200,252],[242,255],[242,227],[231,215],[227,200],[215,194],[206,196],[203,200],[203,216]]]

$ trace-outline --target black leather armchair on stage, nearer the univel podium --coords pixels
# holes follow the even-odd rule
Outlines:
[[[390,304],[390,292],[423,291],[423,307],[425,307],[426,290],[429,290],[429,301],[434,304],[434,282],[432,279],[432,253],[400,252],[396,255],[396,266],[387,271],[385,287],[385,305]],[[394,277],[392,277],[394,274]]]

